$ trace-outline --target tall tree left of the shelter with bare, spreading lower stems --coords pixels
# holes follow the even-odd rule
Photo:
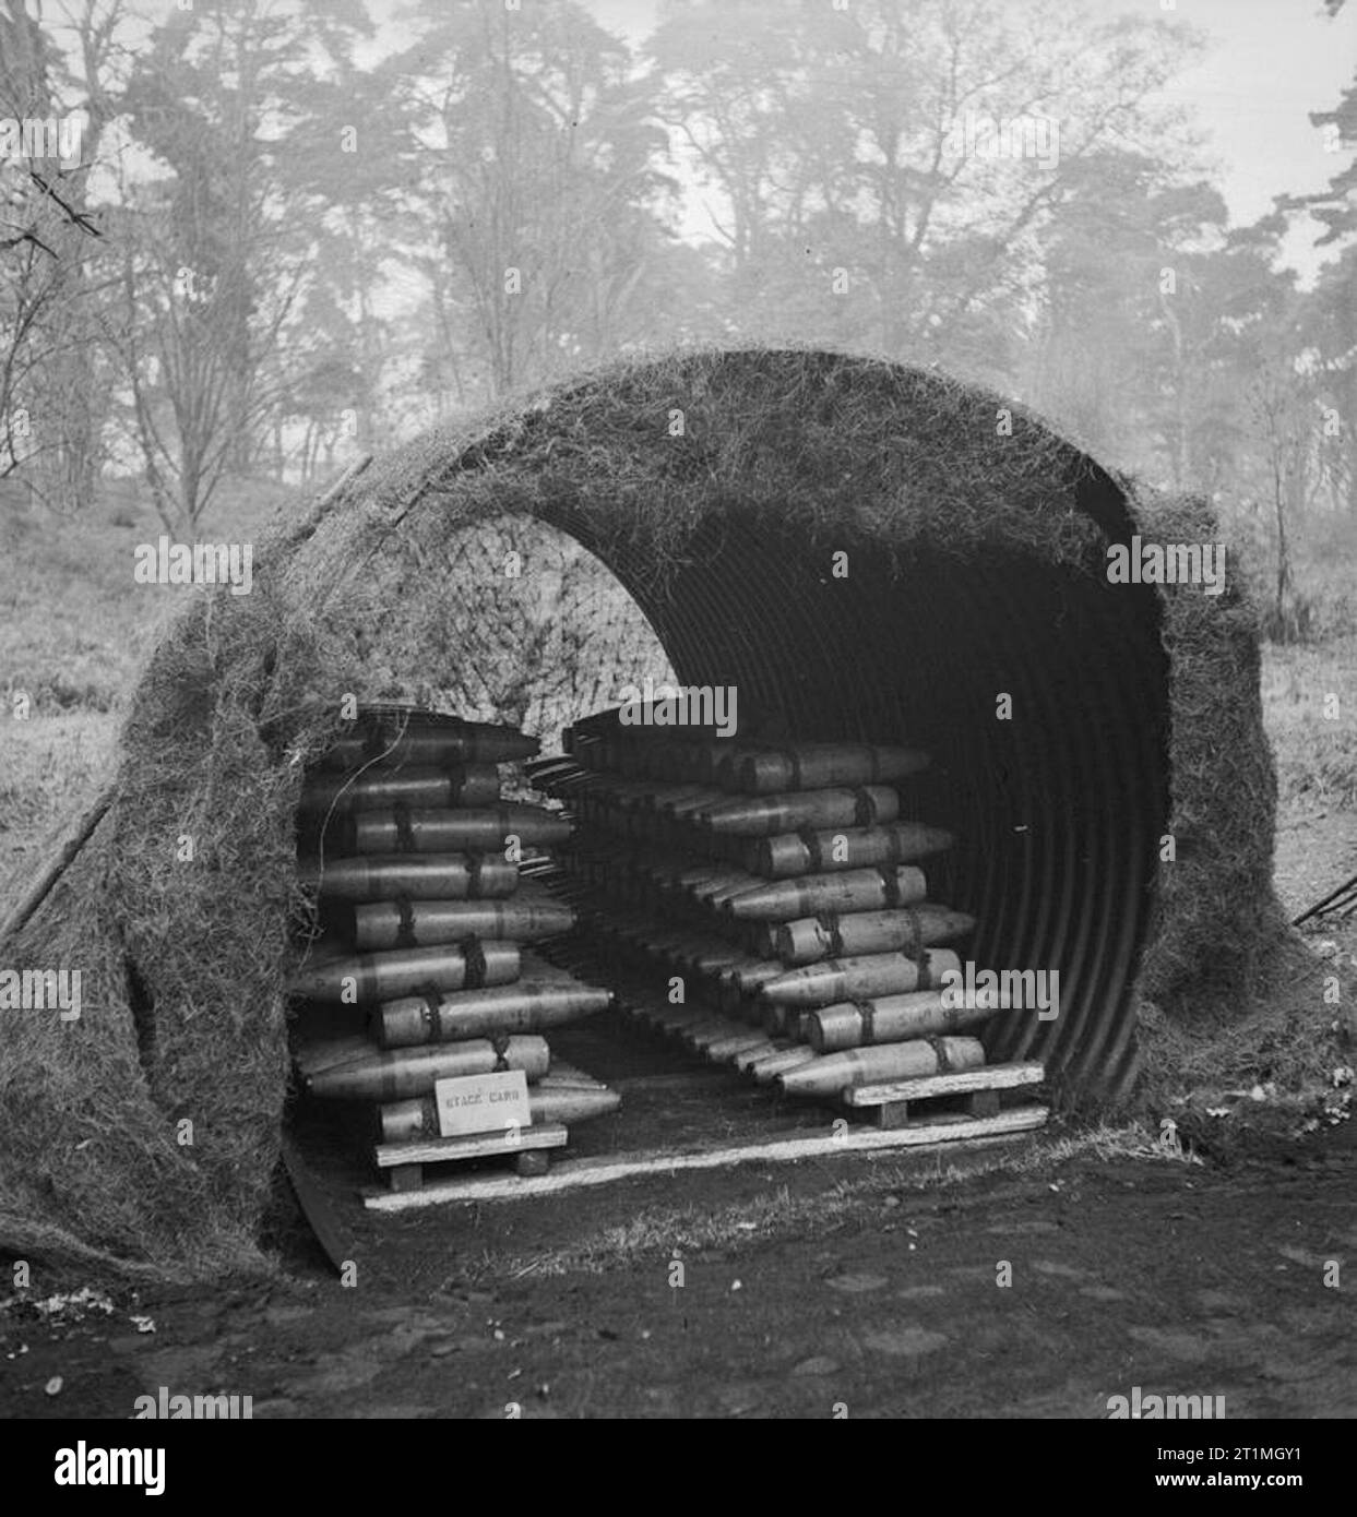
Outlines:
[[[319,105],[338,105],[334,90],[317,103],[316,74],[349,21],[345,6],[316,23],[291,0],[214,0],[172,12],[128,83],[134,138],[161,174],[123,181],[109,335],[167,525],[196,523],[228,469],[249,467],[285,393],[281,337],[311,279],[319,196],[285,164],[314,140]]]

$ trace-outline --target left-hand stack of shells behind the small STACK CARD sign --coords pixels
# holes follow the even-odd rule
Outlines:
[[[455,1076],[522,1069],[534,1123],[619,1106],[598,1082],[553,1076],[542,1036],[612,995],[524,947],[575,924],[521,884],[521,860],[571,836],[560,813],[501,798],[498,765],[536,752],[510,727],[375,707],[307,778],[299,877],[325,936],[288,992],[367,1009],[366,1036],[304,1065],[307,1088],[378,1103],[383,1142],[437,1138],[434,1083]]]

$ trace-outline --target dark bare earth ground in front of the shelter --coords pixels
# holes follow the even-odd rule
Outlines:
[[[1287,818],[1284,904],[1354,857],[1354,813]],[[1357,954],[1357,918],[1314,938]],[[592,1073],[682,1136],[723,1076],[633,1053]],[[732,1095],[735,1127],[739,1100],[762,1097]],[[323,1127],[304,1112],[298,1132],[351,1285],[284,1203],[273,1283],[105,1294],[36,1273],[0,1309],[0,1415],[126,1418],[164,1387],[250,1396],[257,1418],[1104,1418],[1137,1385],[1220,1396],[1228,1418],[1357,1415],[1354,1121],[1199,1162],[1099,1156],[1056,1126],[398,1217],[357,1204]]]

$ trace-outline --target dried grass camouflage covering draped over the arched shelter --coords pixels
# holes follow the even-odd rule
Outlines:
[[[876,545],[902,573],[918,554],[962,570],[1012,558],[1096,589],[1126,525],[1119,492],[1090,485],[1087,460],[1020,411],[1006,429],[1005,410],[861,358],[680,355],[431,432],[284,520],[260,546],[253,593],[196,598],[155,651],[108,816],[0,945],[3,963],[85,972],[79,1022],[11,1016],[0,1044],[0,1244],[162,1277],[266,1267],[302,772],[346,692],[402,693],[390,630],[402,602],[455,595],[439,567],[451,531],[516,513],[565,525],[662,636],[672,586],[701,575],[733,514],[783,545],[773,561],[842,540]],[[1185,504],[1149,504],[1143,529],[1210,536]],[[1143,975],[1172,1007],[1204,975],[1217,1000],[1242,992],[1280,918],[1251,614],[1192,593],[1163,605],[1169,827],[1184,846],[1161,874]],[[776,642],[754,678],[782,657]]]

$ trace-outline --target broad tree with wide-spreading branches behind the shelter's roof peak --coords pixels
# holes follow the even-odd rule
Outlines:
[[[1163,124],[1151,97],[1192,46],[1000,0],[669,0],[662,17],[662,112],[716,196],[741,329],[993,379],[1072,173]]]

